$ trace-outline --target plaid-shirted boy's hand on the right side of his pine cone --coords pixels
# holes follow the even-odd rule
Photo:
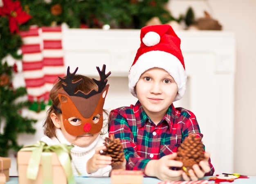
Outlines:
[[[204,153],[204,160],[200,161],[199,164],[194,164],[193,169],[190,169],[189,175],[186,175],[186,173],[182,173],[182,177],[184,180],[198,180],[199,178],[204,177],[205,173],[208,173],[211,168],[209,166],[209,160],[210,154],[208,152]]]

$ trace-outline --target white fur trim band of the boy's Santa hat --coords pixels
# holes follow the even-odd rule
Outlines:
[[[155,67],[164,69],[170,73],[178,86],[178,93],[174,101],[180,100],[186,91],[186,72],[178,58],[164,51],[146,52],[138,58],[134,65],[132,65],[128,75],[129,89],[132,95],[137,97],[134,87],[141,74],[148,69]]]

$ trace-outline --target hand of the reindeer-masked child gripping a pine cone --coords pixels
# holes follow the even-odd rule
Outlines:
[[[100,150],[106,149],[106,146],[100,146],[96,149],[95,154],[88,160],[86,170],[88,174],[95,173],[99,168],[111,165],[112,157],[100,155]]]

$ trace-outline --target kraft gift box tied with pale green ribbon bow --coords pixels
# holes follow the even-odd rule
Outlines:
[[[74,184],[70,149],[37,142],[18,151],[19,184]]]

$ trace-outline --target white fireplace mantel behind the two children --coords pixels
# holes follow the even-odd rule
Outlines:
[[[97,78],[96,66],[106,64],[110,89],[104,108],[111,110],[137,101],[128,90],[128,71],[140,44],[140,30],[64,29],[65,68]],[[187,90],[175,106],[195,113],[215,174],[234,170],[235,35],[223,31],[176,31],[181,38],[188,75]],[[42,135],[41,124],[37,128]],[[26,145],[31,135],[20,136]],[[23,139],[23,140],[22,140]],[[34,142],[40,137],[34,137]],[[13,163],[12,166],[15,164]],[[15,171],[13,171],[15,172]],[[15,175],[15,174],[14,174]]]

